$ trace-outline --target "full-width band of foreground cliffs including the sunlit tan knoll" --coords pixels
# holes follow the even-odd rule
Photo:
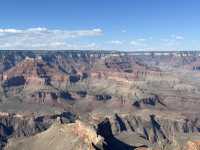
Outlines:
[[[1,112],[1,149],[199,150],[199,126],[192,120],[143,113],[93,115],[86,123],[71,112],[45,116]]]

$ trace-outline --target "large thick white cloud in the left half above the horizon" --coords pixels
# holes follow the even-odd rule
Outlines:
[[[75,38],[103,35],[99,28],[91,30],[58,30],[47,28],[0,29],[0,49],[72,49],[93,48],[95,43],[80,43]],[[78,41],[78,42],[77,42]]]

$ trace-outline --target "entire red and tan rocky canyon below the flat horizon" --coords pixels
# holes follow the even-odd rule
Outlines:
[[[0,51],[0,149],[198,150],[198,51]]]

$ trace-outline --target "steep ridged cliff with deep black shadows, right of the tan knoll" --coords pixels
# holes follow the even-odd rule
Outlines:
[[[198,118],[194,120],[184,117],[175,119],[156,115],[144,117],[136,114],[115,114],[97,124],[97,134],[105,138],[104,147],[108,149],[119,146],[122,150],[159,148],[161,145],[172,149],[180,136],[183,138],[189,134],[199,134],[199,128]],[[182,145],[181,140],[179,142]]]

